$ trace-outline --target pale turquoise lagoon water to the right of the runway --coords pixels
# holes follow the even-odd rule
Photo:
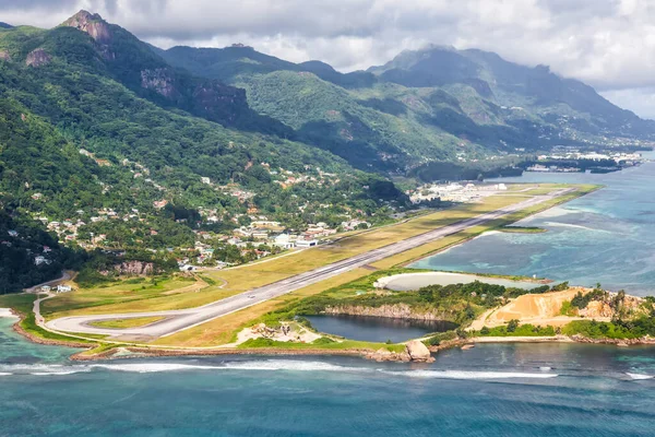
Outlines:
[[[412,267],[536,274],[655,294],[655,163],[607,175],[525,174],[511,182],[599,184],[606,188],[521,221],[545,234],[487,234]]]

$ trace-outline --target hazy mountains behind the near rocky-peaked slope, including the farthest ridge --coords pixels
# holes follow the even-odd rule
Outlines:
[[[431,46],[349,74],[240,45],[157,52],[196,75],[245,88],[254,110],[364,169],[404,174],[431,162],[555,145],[640,145],[655,134],[655,122],[580,81],[480,50]]]

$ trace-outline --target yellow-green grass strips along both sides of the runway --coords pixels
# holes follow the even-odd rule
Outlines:
[[[533,189],[529,191],[521,191],[525,188]],[[41,312],[47,319],[52,319],[72,315],[139,312],[146,310],[154,311],[196,307],[331,262],[380,248],[434,228],[477,216],[486,212],[491,212],[499,208],[526,200],[534,194],[549,193],[559,188],[563,188],[563,186],[525,185],[521,186],[520,190],[512,188],[512,190],[507,193],[488,197],[479,203],[461,204],[452,209],[420,215],[405,223],[384,226],[368,232],[359,232],[349,237],[341,238],[329,246],[311,248],[240,268],[203,272],[202,277],[206,277],[207,281],[204,281],[200,276],[195,279],[147,279],[136,281],[131,280],[104,287],[83,288],[73,293],[58,295],[52,299],[44,302]],[[426,255],[473,238],[486,231],[505,226],[531,215],[532,213],[582,196],[593,189],[595,189],[593,186],[579,186],[577,192],[567,197],[558,198],[547,204],[540,204],[515,213],[511,217],[501,218],[484,226],[477,226],[466,232],[390,257],[374,263],[373,267],[378,269],[390,269],[395,265],[405,264]],[[293,299],[309,296],[326,288],[345,284],[369,273],[370,271],[366,269],[346,272],[340,276],[310,285],[236,314],[227,315],[199,327],[159,339],[154,344],[180,346],[212,346],[224,344],[233,339],[236,330],[249,321],[281,307]]]

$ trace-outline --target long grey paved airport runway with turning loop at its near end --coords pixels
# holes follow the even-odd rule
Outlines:
[[[384,246],[379,249],[374,249],[369,252],[361,253],[342,261],[337,261],[332,264],[324,265],[319,269],[314,269],[279,282],[275,282],[270,285],[254,288],[242,294],[217,300],[202,307],[170,311],[64,317],[51,320],[48,323],[46,323],[46,326],[57,331],[104,335],[139,335],[152,338],[171,335],[176,332],[204,323],[209,320],[226,316],[230,312],[235,312],[240,309],[260,304],[262,302],[266,302],[271,298],[282,296],[284,294],[302,288],[307,285],[324,281],[332,276],[336,276],[337,274],[347,272],[349,270],[360,268],[371,262],[380,261],[384,258],[404,252],[406,250],[425,245],[427,243],[431,243],[437,239],[446,237],[449,235],[456,234],[458,232],[485,224],[487,222],[503,217],[520,210],[524,210],[526,208],[544,203],[557,197],[567,194],[573,190],[574,189],[564,189],[552,192],[547,196],[535,196],[534,198],[525,200],[523,202],[519,202],[490,213],[481,214],[477,217],[463,220],[461,222],[456,222],[451,225],[446,225],[434,231],[430,231],[425,234],[407,238],[403,241],[394,243],[389,246]],[[127,319],[136,317],[165,317],[165,319],[145,327],[128,329],[106,329],[93,327],[90,324],[92,322],[97,322],[102,320]]]

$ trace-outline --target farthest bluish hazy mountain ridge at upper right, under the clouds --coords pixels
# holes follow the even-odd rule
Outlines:
[[[568,127],[584,133],[639,138],[655,132],[655,122],[617,107],[577,80],[560,78],[546,66],[509,62],[488,51],[431,46],[404,51],[368,71],[409,87],[441,87],[457,94],[455,90],[465,85],[488,102],[521,108],[516,110],[543,122],[571,118]]]

